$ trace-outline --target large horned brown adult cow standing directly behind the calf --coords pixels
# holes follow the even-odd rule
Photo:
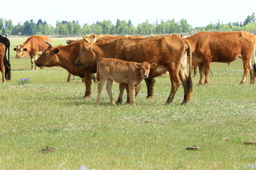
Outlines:
[[[154,78],[169,71],[171,79],[171,93],[166,104],[171,103],[180,85],[181,79],[184,89],[183,103],[192,97],[191,67],[187,76],[187,57],[191,58],[190,43],[177,35],[148,37],[148,38],[119,38],[110,42],[95,43],[84,38],[76,65],[80,68],[97,63],[100,57],[115,58],[123,61],[142,63],[156,63],[157,67],[149,73]],[[190,61],[190,60],[189,60]],[[191,61],[190,61],[191,65]]]

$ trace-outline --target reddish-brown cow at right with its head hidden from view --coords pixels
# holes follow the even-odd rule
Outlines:
[[[203,84],[204,75],[206,76],[204,85],[208,85],[211,62],[230,64],[238,58],[242,59],[244,66],[244,76],[240,85],[245,83],[249,72],[250,84],[254,84],[256,38],[253,34],[246,31],[199,32],[185,39],[189,40],[191,44],[192,66],[199,67],[199,85]],[[253,52],[254,64],[251,62]]]

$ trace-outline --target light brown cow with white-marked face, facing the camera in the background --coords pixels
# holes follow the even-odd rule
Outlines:
[[[33,57],[35,57],[36,61],[37,55],[41,54],[42,51],[44,51],[48,47],[48,45],[44,43],[44,41],[51,42],[47,36],[34,35],[30,36],[23,44],[14,45],[16,48],[14,48],[13,50],[17,51],[15,58],[28,56],[32,64],[31,70],[34,69]],[[35,66],[35,70],[37,70],[37,66]]]

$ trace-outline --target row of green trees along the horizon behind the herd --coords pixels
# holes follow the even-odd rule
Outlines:
[[[251,16],[247,16],[244,22],[234,22],[224,24],[223,22],[208,24],[207,26],[193,28],[192,25],[188,24],[187,20],[183,19],[175,21],[175,19],[160,22],[156,20],[153,23],[149,23],[149,20],[139,23],[137,27],[133,26],[131,20],[126,22],[125,20],[117,19],[116,24],[112,24],[110,20],[97,21],[91,25],[79,24],[78,20],[75,21],[56,21],[56,26],[47,24],[46,21],[39,19],[36,22],[34,20],[26,20],[23,24],[20,22],[16,26],[13,25],[12,20],[6,20],[0,18],[0,34],[18,35],[18,36],[32,36],[32,35],[53,35],[56,37],[67,37],[67,36],[81,36],[89,34],[110,34],[110,35],[148,35],[149,28],[152,29],[152,34],[173,34],[188,32],[185,26],[190,31],[232,31],[231,25],[234,31],[245,30],[247,32],[254,33],[256,35],[256,22],[255,13],[252,12]],[[185,24],[185,26],[183,25]]]

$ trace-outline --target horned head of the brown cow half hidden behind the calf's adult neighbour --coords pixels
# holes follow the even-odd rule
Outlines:
[[[53,67],[58,64],[58,56],[56,55],[60,49],[53,47],[52,43],[45,41],[49,46],[35,61],[36,66]],[[59,46],[59,45],[58,45]]]

